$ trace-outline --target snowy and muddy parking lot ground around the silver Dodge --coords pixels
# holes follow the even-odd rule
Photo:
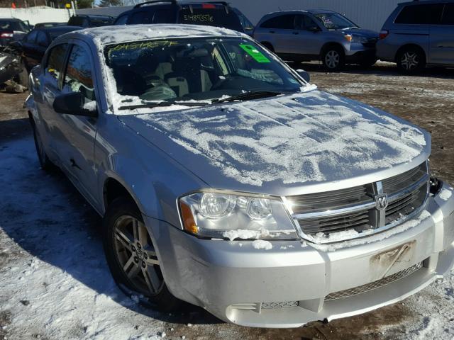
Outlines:
[[[454,69],[404,77],[382,62],[338,74],[293,66],[320,89],[431,132],[431,169],[454,183]],[[300,329],[236,327],[191,306],[140,307],[110,276],[96,212],[65,176],[39,169],[25,98],[0,93],[0,339],[453,339],[453,275],[404,302]]]

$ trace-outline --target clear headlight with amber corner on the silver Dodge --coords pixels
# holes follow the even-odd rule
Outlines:
[[[280,198],[204,192],[179,199],[184,230],[224,239],[297,239]]]

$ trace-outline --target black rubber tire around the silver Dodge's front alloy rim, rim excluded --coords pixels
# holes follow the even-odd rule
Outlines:
[[[131,284],[130,280],[126,276],[126,273],[123,271],[120,263],[118,262],[115,254],[115,245],[114,245],[114,229],[115,222],[118,218],[122,216],[132,216],[135,217],[140,222],[143,222],[142,214],[137,208],[137,205],[131,201],[130,198],[116,198],[106,210],[106,214],[103,219],[103,245],[104,253],[106,254],[107,264],[111,271],[112,276],[118,287],[128,296],[135,295],[140,296],[143,293],[139,293],[134,286]],[[172,293],[167,288],[167,285],[164,283],[164,286],[156,295],[146,296],[148,301],[140,300],[141,305],[145,307],[153,307],[162,312],[171,312],[177,310],[181,305],[182,301],[173,296]]]

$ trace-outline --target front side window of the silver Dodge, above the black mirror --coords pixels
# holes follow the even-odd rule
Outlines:
[[[72,46],[70,59],[66,67],[63,90],[67,93],[82,93],[85,103],[95,100],[92,63],[90,62],[89,52],[82,46]]]

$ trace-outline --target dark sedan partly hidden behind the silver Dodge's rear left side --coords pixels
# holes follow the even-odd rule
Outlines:
[[[23,63],[28,72],[41,62],[50,43],[62,34],[80,30],[79,26],[55,26],[32,30],[18,45],[23,53]]]

